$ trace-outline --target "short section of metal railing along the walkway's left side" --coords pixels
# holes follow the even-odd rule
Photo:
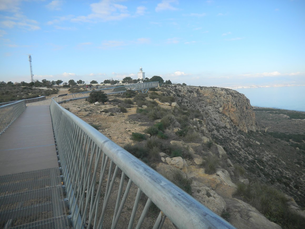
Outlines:
[[[2,135],[26,108],[25,100],[0,106],[0,135]]]

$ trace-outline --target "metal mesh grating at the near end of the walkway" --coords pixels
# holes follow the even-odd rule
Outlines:
[[[0,176],[0,228],[69,228],[58,167]]]

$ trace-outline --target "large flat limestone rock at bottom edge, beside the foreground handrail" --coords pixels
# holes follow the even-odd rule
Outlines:
[[[225,199],[227,211],[231,215],[230,223],[236,228],[280,229],[278,224],[269,221],[257,209],[235,198]]]

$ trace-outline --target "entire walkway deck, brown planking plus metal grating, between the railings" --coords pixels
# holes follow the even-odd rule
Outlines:
[[[0,136],[0,228],[68,228],[48,105]]]

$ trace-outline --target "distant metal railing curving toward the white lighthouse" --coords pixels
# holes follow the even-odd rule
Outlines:
[[[147,92],[147,90],[149,88],[158,87],[158,85],[159,85],[159,82],[147,82],[147,83],[137,83],[137,84],[129,84],[129,85],[123,85],[123,86],[115,86],[115,85],[98,86],[98,87],[91,88],[91,90],[86,91],[86,92],[68,94],[66,96],[59,96],[59,97],[55,97],[53,99],[57,103],[61,103],[63,101],[70,101],[70,100],[88,98],[89,94],[92,92],[92,89],[101,90],[107,95],[123,93],[123,92],[126,92],[127,90],[132,90],[132,91],[139,91],[140,90],[142,92]]]

